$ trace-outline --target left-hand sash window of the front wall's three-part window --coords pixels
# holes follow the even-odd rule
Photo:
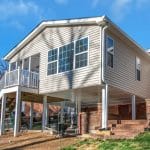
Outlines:
[[[48,75],[57,73],[57,53],[58,49],[52,49],[48,52]]]

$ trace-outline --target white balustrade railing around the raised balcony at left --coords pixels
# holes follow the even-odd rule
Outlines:
[[[6,72],[0,79],[0,90],[2,88],[8,88],[16,85],[38,89],[39,73],[17,69]]]

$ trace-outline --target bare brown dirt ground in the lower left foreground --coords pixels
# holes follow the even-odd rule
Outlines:
[[[0,136],[1,150],[60,150],[77,142],[76,137],[57,138],[46,133],[22,133],[14,138],[12,134]]]

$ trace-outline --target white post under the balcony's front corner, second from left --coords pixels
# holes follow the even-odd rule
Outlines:
[[[21,91],[20,87],[16,91],[16,106],[15,106],[15,124],[14,124],[14,137],[19,133],[20,126],[20,107],[21,107]]]

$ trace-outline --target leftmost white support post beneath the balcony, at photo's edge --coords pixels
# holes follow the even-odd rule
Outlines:
[[[5,109],[6,109],[6,94],[3,94],[1,103],[0,135],[4,134],[5,130]]]

